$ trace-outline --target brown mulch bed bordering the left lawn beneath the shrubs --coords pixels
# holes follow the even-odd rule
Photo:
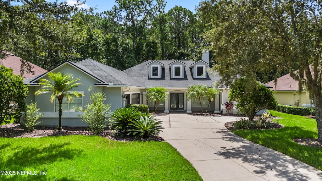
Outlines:
[[[40,138],[45,136],[66,136],[66,135],[94,135],[94,132],[89,131],[88,127],[69,127],[62,126],[62,130],[57,130],[56,127],[39,127],[33,131],[27,131],[19,127],[20,124],[12,123],[1,125],[0,137],[5,138]],[[124,136],[120,138],[116,133],[112,134],[113,130],[106,128],[99,136],[116,140],[116,141],[134,141],[134,137]],[[112,134],[112,135],[111,135]],[[147,138],[137,139],[139,141],[164,141],[160,136],[149,136]]]

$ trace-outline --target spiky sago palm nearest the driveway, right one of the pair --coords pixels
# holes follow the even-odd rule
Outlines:
[[[144,113],[145,114],[145,113]],[[164,129],[161,126],[162,121],[159,121],[155,116],[141,116],[139,119],[131,120],[128,129],[128,135],[135,136],[137,138],[143,138],[150,135],[158,135],[161,129]]]

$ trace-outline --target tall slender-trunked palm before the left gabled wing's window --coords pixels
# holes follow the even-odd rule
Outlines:
[[[59,110],[58,110],[58,115],[59,115],[59,126],[58,129],[62,129],[62,100],[63,98],[67,98],[68,102],[73,101],[73,97],[71,95],[75,95],[76,97],[84,96],[81,92],[77,91],[71,91],[72,88],[78,87],[81,85],[81,83],[78,83],[80,79],[73,79],[73,75],[67,73],[53,73],[50,72],[48,73],[49,79],[51,81],[46,80],[46,79],[41,79],[40,85],[43,85],[42,89],[38,90],[35,92],[35,95],[40,95],[40,94],[52,94],[50,97],[50,101],[53,102],[56,98],[58,99],[59,103]],[[73,79],[73,80],[72,80]]]

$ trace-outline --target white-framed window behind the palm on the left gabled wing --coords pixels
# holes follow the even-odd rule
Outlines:
[[[84,94],[84,92],[80,91],[82,94]],[[64,98],[62,100],[62,112],[79,112],[76,110],[77,108],[83,109],[83,97],[82,96],[75,96],[75,95],[71,95],[71,97],[73,97],[73,102],[68,102],[67,98]],[[59,110],[59,103],[58,103],[58,99],[55,99],[55,112],[58,112]]]

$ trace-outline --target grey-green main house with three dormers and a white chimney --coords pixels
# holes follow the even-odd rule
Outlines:
[[[119,71],[113,67],[86,59],[80,62],[64,62],[49,72],[71,73],[74,78],[80,78],[82,85],[73,89],[82,92],[85,97],[74,97],[73,102],[66,100],[62,105],[63,126],[84,126],[85,122],[77,117],[79,114],[75,107],[84,108],[90,99],[89,86],[93,90],[101,90],[107,99],[105,103],[111,104],[111,111],[124,107],[127,104],[147,104],[153,110],[154,102],[147,100],[146,89],[149,87],[163,86],[167,89],[168,100],[160,103],[159,111],[168,113],[170,110],[200,111],[199,100],[187,100],[188,87],[202,84],[212,87],[220,77],[209,69],[209,52],[203,53],[203,60],[194,62],[191,60],[149,60],[138,64],[125,71]],[[48,79],[47,73],[37,75],[24,80],[28,84],[29,95],[27,103],[37,102],[40,112],[44,116],[40,125],[58,125],[58,102],[50,103],[50,95],[35,96],[34,92],[41,89],[38,84],[40,79]],[[229,90],[219,88],[219,97],[210,104],[208,112],[224,112],[223,103],[228,101]],[[208,105],[208,99],[202,100],[204,108]]]

